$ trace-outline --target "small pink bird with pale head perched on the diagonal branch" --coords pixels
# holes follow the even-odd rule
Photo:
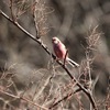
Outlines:
[[[69,63],[74,67],[78,67],[79,66],[79,64],[75,63],[74,61],[72,61],[66,55],[67,54],[67,50],[66,50],[65,45],[59,41],[59,38],[53,37],[52,38],[52,43],[53,43],[54,53],[55,53],[55,55],[57,56],[58,59],[65,59],[67,63]]]

